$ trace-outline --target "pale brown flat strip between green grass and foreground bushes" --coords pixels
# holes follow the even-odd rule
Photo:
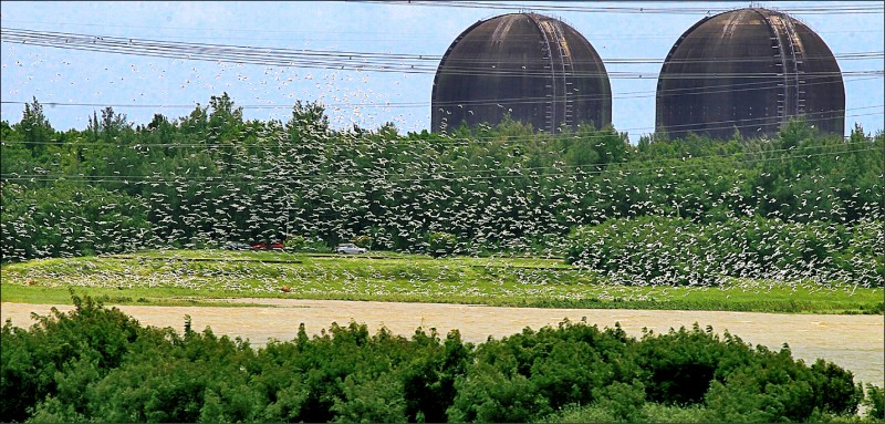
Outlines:
[[[555,325],[563,319],[579,321],[583,317],[600,328],[621,327],[638,337],[643,328],[657,333],[695,322],[712,325],[721,333],[728,330],[743,341],[780,349],[787,342],[794,358],[812,363],[818,358],[832,361],[854,372],[857,381],[885,385],[885,321],[882,316],[780,314],[716,311],[647,311],[601,309],[494,308],[442,303],[352,302],[335,300],[239,299],[267,307],[140,307],[121,306],[123,312],[142,324],[184,328],[184,317],[191,317],[195,330],[210,327],[216,334],[242,337],[256,347],[269,339],[292,340],[300,323],[311,334],[327,329],[332,322],[346,325],[351,320],[366,323],[374,333],[381,325],[408,337],[418,327],[436,328],[445,335],[458,329],[465,340],[500,339],[522,331]],[[31,312],[48,314],[51,304],[2,303],[0,319],[12,319],[13,325],[30,327]],[[62,311],[72,309],[55,306]]]

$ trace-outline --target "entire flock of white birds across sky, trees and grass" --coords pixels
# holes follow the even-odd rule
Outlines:
[[[206,246],[220,247],[229,240],[252,241],[251,239],[260,238],[270,241],[282,239],[287,235],[304,236],[311,240],[315,240],[316,235],[333,235],[342,241],[367,235],[372,237],[373,250],[406,246],[406,250],[423,251],[428,231],[445,231],[459,235],[460,249],[466,255],[499,251],[504,252],[499,255],[506,256],[530,251],[539,256],[561,257],[569,246],[566,235],[580,225],[596,225],[633,216],[698,218],[699,210],[716,210],[726,219],[745,218],[757,214],[754,206],[743,206],[748,198],[753,199],[756,205],[771,206],[767,218],[814,221],[820,217],[827,217],[831,224],[806,228],[809,231],[820,231],[819,239],[822,240],[831,240],[836,226],[848,224],[866,226],[871,237],[864,242],[882,241],[882,184],[858,188],[851,180],[833,182],[830,178],[831,169],[820,167],[812,168],[811,173],[780,176],[779,178],[784,178],[782,184],[802,187],[791,194],[794,197],[789,199],[789,208],[784,209],[779,208],[783,198],[767,193],[761,187],[748,188],[747,184],[749,178],[754,177],[747,174],[751,168],[747,164],[762,164],[757,169],[764,173],[767,162],[813,162],[819,157],[839,161],[855,154],[875,153],[877,145],[866,141],[846,142],[834,149],[799,148],[790,152],[723,154],[704,161],[634,162],[628,166],[622,164],[607,167],[604,157],[590,152],[604,151],[598,144],[623,139],[621,135],[612,134],[600,139],[573,141],[583,144],[587,155],[596,155],[594,157],[562,157],[551,161],[548,158],[561,155],[563,141],[549,136],[528,136],[517,132],[514,136],[494,138],[434,138],[397,134],[395,127],[355,128],[366,122],[376,122],[378,111],[387,112],[392,107],[405,113],[421,111],[423,114],[429,106],[429,100],[419,103],[391,102],[391,99],[399,99],[396,91],[400,84],[413,84],[415,79],[424,77],[419,75],[371,74],[266,63],[263,75],[256,76],[254,73],[247,72],[246,68],[260,66],[263,62],[198,62],[190,58],[171,59],[168,55],[171,53],[168,52],[166,56],[160,55],[147,62],[146,66],[129,63],[117,69],[100,68],[85,72],[83,66],[88,64],[77,63],[76,52],[58,53],[50,52],[52,49],[48,48],[33,50],[35,48],[31,45],[7,43],[14,34],[6,32],[4,49],[9,52],[8,56],[17,58],[17,61],[4,60],[3,69],[54,68],[58,73],[51,81],[41,82],[43,85],[38,85],[37,82],[31,85],[29,82],[22,86],[3,87],[4,97],[34,95],[49,105],[48,107],[63,107],[65,104],[81,107],[84,111],[84,127],[85,120],[94,110],[107,106],[106,103],[88,102],[92,99],[111,97],[117,90],[135,93],[131,95],[132,99],[112,104],[118,106],[118,110],[134,111],[132,107],[136,105],[138,111],[149,110],[152,113],[174,115],[179,111],[187,113],[194,106],[152,102],[156,102],[156,99],[171,99],[169,92],[174,91],[199,93],[195,95],[231,92],[233,99],[249,99],[247,104],[238,105],[247,115],[261,113],[267,117],[270,114],[270,120],[252,125],[254,131],[242,134],[239,138],[221,136],[225,128],[219,127],[210,128],[207,139],[177,141],[171,145],[156,142],[119,146],[122,153],[108,155],[108,170],[105,174],[64,174],[63,169],[69,164],[61,161],[34,168],[25,175],[8,175],[3,170],[4,184],[61,185],[70,182],[86,187],[113,187],[121,192],[137,187],[134,192],[139,195],[134,197],[135,204],[117,204],[116,198],[96,204],[95,199],[86,195],[59,199],[60,203],[70,201],[75,209],[98,208],[102,219],[97,223],[85,223],[85,218],[77,216],[44,213],[41,209],[44,205],[24,195],[3,199],[4,204],[25,201],[23,205],[15,205],[25,213],[15,220],[6,220],[6,228],[20,236],[53,228],[58,242],[65,248],[73,249],[93,240],[113,240],[124,250],[165,249],[171,246],[170,241],[181,241],[184,248],[197,249]],[[35,37],[30,32],[24,35]],[[102,40],[105,43],[104,49],[110,49],[106,45],[111,41]],[[180,43],[171,44],[176,46]],[[134,53],[129,52],[132,54],[147,54],[147,48],[133,46],[132,42],[121,45],[121,49],[135,49]],[[176,49],[173,50],[180,50]],[[252,49],[248,53],[267,55],[273,52]],[[56,60],[55,54],[63,59]],[[881,54],[862,52],[860,59],[879,60]],[[259,59],[261,58],[264,56]],[[421,61],[426,59],[420,58]],[[121,63],[125,63],[125,60]],[[657,63],[654,66],[657,68]],[[178,71],[184,69],[189,69],[190,73],[181,77]],[[88,97],[83,97],[83,103],[77,103],[80,99],[69,99],[69,90],[87,85],[90,79],[102,81],[104,91],[90,93]],[[882,71],[875,68],[872,71],[848,73],[845,79],[848,84],[867,84],[870,81],[881,80]],[[122,89],[124,85],[127,90]],[[162,87],[158,93],[152,92],[152,87],[157,86]],[[381,90],[382,86],[386,89]],[[129,90],[132,87],[139,87],[142,91],[133,92]],[[281,93],[284,96],[283,102],[279,101]],[[654,96],[654,89],[621,92],[615,93],[615,101],[639,99],[653,103]],[[292,103],[310,99],[322,101],[331,117],[329,126],[314,125],[311,122],[289,122]],[[851,120],[853,116],[867,114],[881,115],[881,111],[882,105],[864,105],[846,111],[846,115]],[[186,116],[180,120],[186,120]],[[394,124],[404,126],[412,121],[414,120],[400,115]],[[250,124],[246,124],[246,127],[249,126]],[[333,134],[330,127],[337,131]],[[648,132],[650,128],[621,130]],[[293,132],[299,134],[299,143],[292,142]],[[79,145],[85,148],[105,148],[86,143]],[[170,151],[174,155],[168,154]],[[170,156],[174,158],[169,158]],[[138,161],[148,159],[153,170],[148,174],[127,174],[125,165],[115,163],[128,163],[134,157]],[[465,159],[459,161],[459,157]],[[878,169],[878,175],[881,179],[883,169]],[[750,193],[747,193],[748,189]],[[846,194],[846,190],[856,192]],[[858,196],[870,197],[870,193],[861,190],[876,190],[873,197],[878,201],[855,201]],[[136,209],[147,210],[148,216],[157,218],[149,231],[126,227],[132,218],[128,214]],[[781,213],[788,209],[789,213]],[[850,216],[864,218],[857,223],[846,223]],[[81,228],[98,230],[84,232]],[[631,230],[639,231],[635,228]],[[6,244],[9,234],[3,237]],[[774,245],[775,241],[771,240],[771,244]],[[704,254],[706,246],[698,246],[698,242],[700,241],[688,237],[686,245],[680,247],[657,245],[654,241],[636,246],[633,252],[626,252],[620,258],[624,266],[615,267],[618,271],[607,276],[605,281],[667,286],[681,280],[680,283],[706,288],[709,286],[706,275],[717,273],[718,270],[710,268],[710,260],[704,255],[690,257],[683,251]],[[751,260],[746,248],[741,249],[741,242],[746,244],[733,240],[737,254],[733,257],[718,258],[718,261],[729,263],[732,269],[745,269],[741,275],[743,277],[792,285],[812,281],[822,283],[822,290],[833,287],[832,285],[844,285],[851,289],[856,287],[857,281],[867,287],[883,285],[883,276],[877,273],[881,267],[874,267],[875,261],[868,261],[868,258],[863,258],[851,275],[831,271],[830,268],[813,262],[784,263],[780,269],[764,269]],[[803,249],[801,242],[796,240],[794,244],[799,245],[792,247]],[[51,256],[48,248],[34,248],[39,257]],[[882,251],[881,247],[877,249],[879,250],[876,251]],[[741,254],[741,250],[745,252]],[[22,251],[8,249],[3,249],[3,255],[7,260],[24,257]],[[635,256],[647,260],[635,266]],[[660,276],[644,268],[649,262],[667,261],[667,258],[677,256],[688,258],[679,265],[687,270],[687,275],[693,276],[687,281],[683,277]],[[571,272],[575,281],[598,282],[595,278],[598,270],[587,263],[583,265],[585,267],[573,268],[568,272]],[[420,272],[384,275],[371,263],[366,265],[365,273],[350,275],[350,271],[341,270],[334,276],[316,275],[315,269],[287,269],[274,263],[264,266],[271,269],[275,267],[278,271],[243,266],[241,272],[232,272],[227,265],[212,268],[206,263],[195,270],[196,266],[188,265],[186,260],[170,260],[158,266],[157,272],[149,275],[132,275],[139,268],[126,269],[122,266],[114,278],[95,278],[93,270],[85,268],[80,272],[72,270],[56,277],[60,278],[59,283],[117,285],[118,276],[128,276],[133,285],[176,285],[195,290],[204,287],[201,285],[212,283],[230,289],[275,291],[281,278],[291,285],[296,285],[300,280],[329,278],[346,282],[356,292],[366,290],[365,282],[373,278],[410,282],[409,288],[402,288],[404,292],[420,291],[426,285],[440,281],[450,285],[452,290],[458,288],[458,292],[468,292],[472,283],[455,271],[450,275],[437,275],[434,281],[428,281]],[[504,268],[509,273],[500,277],[502,279],[517,279],[522,285],[532,286],[533,290],[548,290],[550,296],[577,296],[559,292],[558,288],[549,285],[549,272],[565,271]],[[764,286],[756,282],[743,283],[756,285],[752,290],[760,290],[760,287],[764,289]],[[621,290],[614,288],[617,285],[612,287],[613,293]]]

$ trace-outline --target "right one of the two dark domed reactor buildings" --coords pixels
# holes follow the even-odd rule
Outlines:
[[[842,135],[845,87],[833,53],[802,22],[767,9],[700,20],[674,44],[657,83],[658,134],[774,134],[791,117]]]

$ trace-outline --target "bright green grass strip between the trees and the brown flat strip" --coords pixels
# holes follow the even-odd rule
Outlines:
[[[542,258],[168,250],[2,266],[3,302],[65,304],[70,289],[114,304],[216,304],[237,297],[537,308],[883,311],[881,288],[733,279],[719,287],[625,287],[561,259]]]

